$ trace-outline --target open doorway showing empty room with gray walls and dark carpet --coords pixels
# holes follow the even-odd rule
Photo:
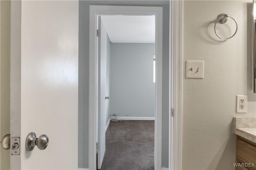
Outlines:
[[[97,36],[97,168],[154,169],[155,16],[98,16]]]

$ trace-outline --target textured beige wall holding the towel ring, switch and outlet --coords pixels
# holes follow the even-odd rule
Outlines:
[[[232,118],[256,116],[251,4],[184,1],[184,68],[186,60],[203,60],[204,79],[183,81],[182,169],[234,169]],[[214,23],[222,13],[238,22],[238,32],[226,41],[214,33]],[[248,95],[248,113],[236,113],[236,95]]]

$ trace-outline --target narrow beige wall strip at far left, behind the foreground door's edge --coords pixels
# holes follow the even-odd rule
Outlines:
[[[0,113],[1,131],[0,140],[6,134],[10,134],[10,1],[1,1],[1,56],[0,56]],[[10,150],[4,150],[0,146],[0,169],[10,169]]]

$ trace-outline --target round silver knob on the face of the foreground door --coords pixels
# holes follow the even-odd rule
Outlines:
[[[28,151],[32,151],[35,146],[40,150],[44,150],[49,143],[49,138],[46,134],[42,134],[39,138],[36,138],[36,134],[34,132],[30,132],[26,138],[26,149]]]

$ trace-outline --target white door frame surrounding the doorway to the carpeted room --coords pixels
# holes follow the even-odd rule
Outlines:
[[[89,43],[89,169],[96,169],[96,21],[98,15],[156,16],[156,116],[154,166],[162,167],[162,7],[90,5]]]

